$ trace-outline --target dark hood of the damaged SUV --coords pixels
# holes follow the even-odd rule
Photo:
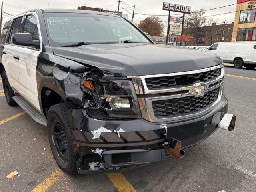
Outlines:
[[[139,76],[212,67],[222,60],[208,52],[160,44],[92,44],[55,47],[55,55],[95,66],[105,75]]]

